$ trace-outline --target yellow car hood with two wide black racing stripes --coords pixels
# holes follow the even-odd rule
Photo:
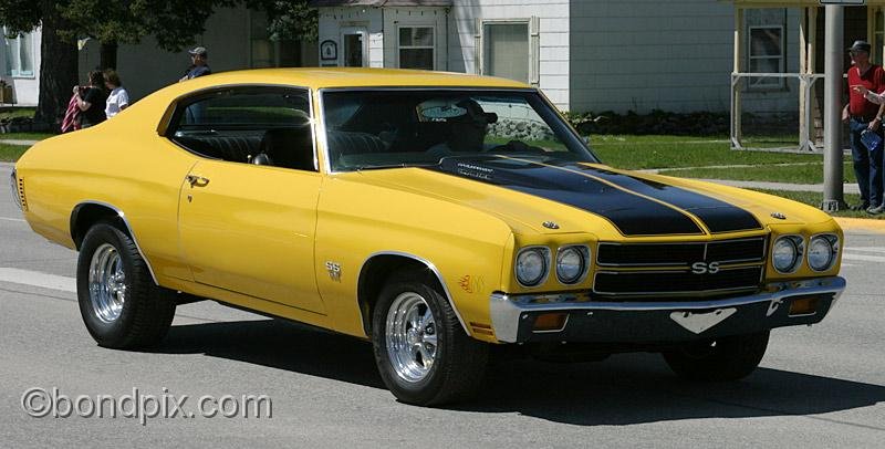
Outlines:
[[[601,164],[455,157],[433,167],[361,175],[365,180],[457,201],[543,233],[710,236],[830,220],[814,208],[764,194]]]

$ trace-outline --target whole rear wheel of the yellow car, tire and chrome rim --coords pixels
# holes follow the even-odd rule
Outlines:
[[[171,292],[154,284],[135,242],[108,222],[83,238],[76,286],[83,323],[102,346],[154,345],[175,316]]]

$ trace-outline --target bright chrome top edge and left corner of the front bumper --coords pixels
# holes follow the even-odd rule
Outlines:
[[[766,292],[730,297],[716,301],[686,301],[686,302],[580,302],[580,303],[545,303],[532,304],[520,301],[522,297],[533,295],[510,296],[506,293],[492,293],[489,297],[489,313],[494,335],[500,342],[516,343],[519,333],[519,322],[523,312],[556,312],[556,311],[615,311],[615,312],[645,312],[645,311],[686,311],[732,307],[756,303],[769,302],[777,309],[785,297],[805,294],[832,293],[833,304],[845,290],[845,279],[840,276],[821,278],[805,281],[774,282],[767,285]],[[773,291],[772,291],[773,290]],[[832,310],[832,305],[831,305]],[[525,315],[528,316],[528,315]]]

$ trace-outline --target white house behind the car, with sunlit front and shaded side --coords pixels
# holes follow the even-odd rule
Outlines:
[[[322,65],[511,77],[540,86],[563,109],[728,109],[735,17],[728,2],[311,3],[320,9]]]

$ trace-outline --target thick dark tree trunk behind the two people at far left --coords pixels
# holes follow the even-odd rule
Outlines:
[[[71,88],[77,84],[76,42],[64,41],[55,33],[64,19],[55,9],[54,1],[41,0],[44,11],[42,21],[42,42],[40,44],[40,97],[38,100],[37,122],[48,123],[58,130],[64,117]]]

